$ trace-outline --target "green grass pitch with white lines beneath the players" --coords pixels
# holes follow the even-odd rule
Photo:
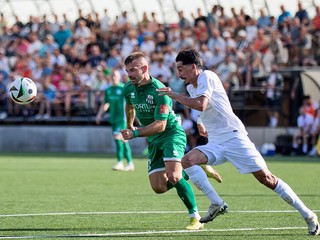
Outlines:
[[[186,232],[188,214],[174,190],[157,195],[147,161],[136,171],[115,172],[103,154],[0,153],[0,239],[310,239],[300,215],[251,175],[216,167],[212,181],[230,212]],[[320,159],[274,157],[271,171],[311,209],[320,209]],[[204,214],[209,202],[194,188]]]

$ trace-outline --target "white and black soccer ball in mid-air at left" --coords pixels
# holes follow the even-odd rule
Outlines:
[[[37,86],[30,78],[15,79],[9,89],[11,99],[18,104],[31,103],[37,95]]]

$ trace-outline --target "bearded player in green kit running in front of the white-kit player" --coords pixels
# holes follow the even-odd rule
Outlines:
[[[160,194],[176,188],[189,211],[190,224],[186,229],[203,229],[192,187],[182,171],[186,135],[172,110],[172,100],[159,96],[156,89],[164,85],[149,76],[143,53],[132,53],[124,63],[130,78],[124,87],[128,129],[121,130],[121,133],[126,140],[147,137],[148,174],[153,191]],[[142,125],[138,129],[133,126],[135,116]]]

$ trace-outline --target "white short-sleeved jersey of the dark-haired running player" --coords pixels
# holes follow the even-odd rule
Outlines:
[[[201,122],[208,132],[209,142],[220,144],[236,136],[247,136],[243,123],[231,108],[219,77],[214,72],[205,70],[199,75],[197,83],[197,88],[189,84],[187,90],[192,98],[205,96],[209,99],[206,110],[199,112]]]

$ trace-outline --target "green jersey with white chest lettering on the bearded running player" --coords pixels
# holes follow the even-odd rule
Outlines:
[[[124,86],[124,97],[128,105],[132,105],[136,117],[142,126],[147,126],[156,120],[166,120],[167,126],[164,132],[148,136],[148,142],[161,141],[164,138],[172,138],[176,134],[185,137],[185,132],[177,121],[172,110],[172,99],[166,95],[159,96],[156,89],[165,87],[163,83],[151,78],[149,84],[137,87],[131,81]],[[180,136],[181,136],[180,135]]]

